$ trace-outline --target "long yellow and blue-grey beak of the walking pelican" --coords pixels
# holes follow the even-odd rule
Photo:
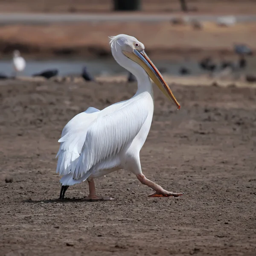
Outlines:
[[[169,85],[166,83],[163,76],[150,60],[150,58],[148,58],[148,55],[146,55],[144,50],[137,51],[134,49],[132,52],[122,51],[122,53],[143,67],[143,69],[148,73],[148,76],[150,76],[150,78],[159,87],[159,89],[167,96],[167,98],[172,100],[172,102],[177,106],[178,110],[180,109],[180,104],[177,102],[177,99],[173,95]]]

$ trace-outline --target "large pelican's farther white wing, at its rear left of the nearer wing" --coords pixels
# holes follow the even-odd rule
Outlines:
[[[66,175],[71,170],[75,170],[82,147],[85,142],[87,129],[96,119],[99,110],[96,108],[88,108],[86,111],[74,116],[64,127],[58,157],[56,172],[60,175]]]

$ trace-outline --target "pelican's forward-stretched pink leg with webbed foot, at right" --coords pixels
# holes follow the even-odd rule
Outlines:
[[[183,195],[182,193],[169,192],[169,191],[163,189],[161,186],[157,185],[153,181],[148,180],[145,177],[145,175],[143,175],[143,174],[137,175],[137,178],[138,178],[138,180],[140,180],[140,182],[142,184],[147,185],[147,186],[151,187],[151,189],[155,190],[155,192],[153,194],[149,195],[149,197],[169,197],[169,196],[178,197],[180,195]]]

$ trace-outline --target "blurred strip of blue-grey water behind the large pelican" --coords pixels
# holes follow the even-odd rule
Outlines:
[[[154,61],[154,60],[153,60]],[[217,62],[217,61],[216,61]],[[186,67],[190,70],[191,75],[199,75],[206,73],[201,70],[198,66],[198,62],[191,61],[161,61],[156,60],[154,64],[162,73],[168,73],[170,75],[179,75],[180,67]],[[58,69],[60,76],[67,75],[79,75],[81,74],[82,68],[86,66],[88,72],[93,76],[99,75],[116,75],[116,74],[127,74],[127,71],[120,67],[112,58],[111,59],[96,59],[96,60],[26,60],[26,68],[21,75],[32,76],[34,73],[39,73],[47,69]],[[243,72],[254,73],[256,69],[256,58],[251,57],[247,59],[247,67]],[[219,71],[219,68],[216,72]],[[11,76],[13,74],[12,60],[0,61],[0,73]]]

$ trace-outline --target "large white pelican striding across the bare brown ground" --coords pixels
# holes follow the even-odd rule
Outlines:
[[[56,172],[63,175],[60,199],[64,199],[69,186],[87,180],[89,195],[86,200],[112,200],[96,195],[94,179],[118,169],[132,172],[142,184],[151,187],[155,192],[150,197],[183,195],[169,192],[148,180],[140,165],[140,150],[148,136],[154,111],[150,78],[177,109],[180,109],[180,105],[140,41],[129,35],[110,38],[114,59],[136,77],[138,89],[131,99],[117,102],[101,111],[89,107],[64,127],[56,156]]]

